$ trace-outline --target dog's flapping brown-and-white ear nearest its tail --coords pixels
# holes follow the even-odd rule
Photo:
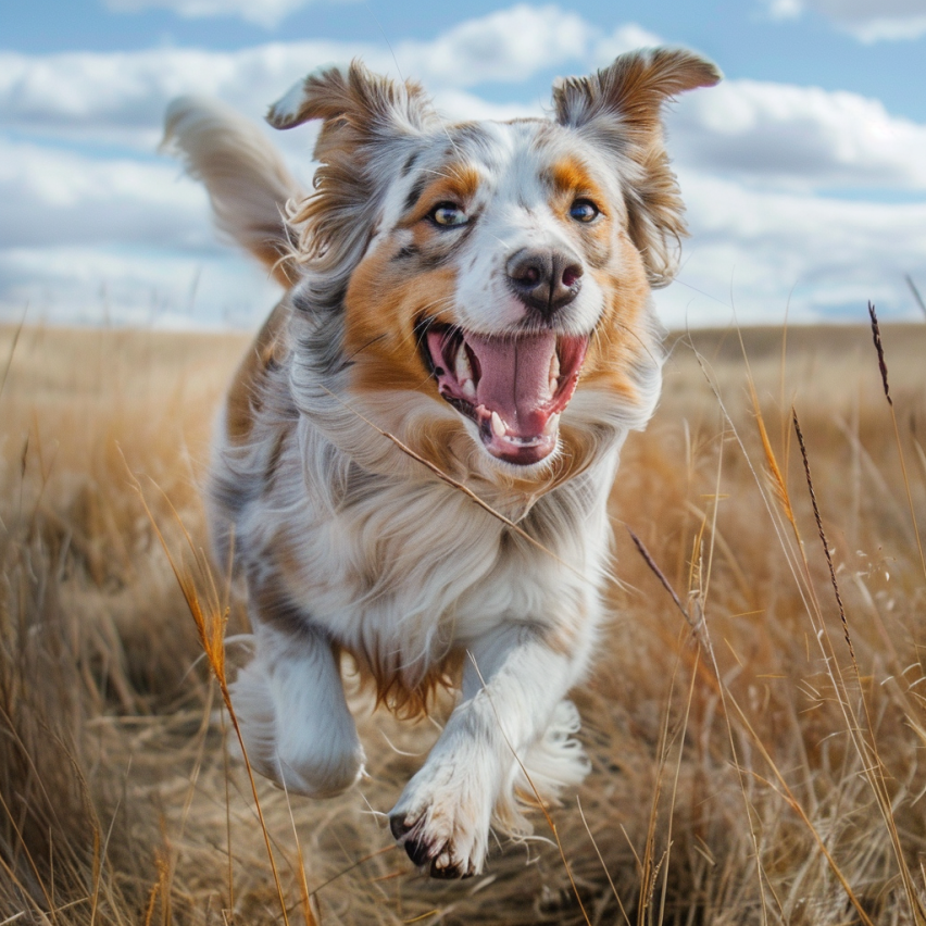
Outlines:
[[[440,121],[417,84],[373,74],[360,61],[346,71],[312,72],[267,113],[275,128],[316,118],[323,123],[314,150],[321,163],[315,193],[291,207],[289,220],[302,225],[301,258],[324,272],[349,273],[363,254],[385,190]]]

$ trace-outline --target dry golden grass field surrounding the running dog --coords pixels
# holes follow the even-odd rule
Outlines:
[[[264,825],[223,746],[153,524],[212,621],[199,485],[247,338],[0,329],[0,926],[926,922],[926,325],[883,335],[892,406],[867,328],[675,342],[575,693],[593,771],[438,883],[383,814],[439,716],[358,694],[370,777],[328,802],[259,780]],[[246,629],[233,600],[229,675]]]

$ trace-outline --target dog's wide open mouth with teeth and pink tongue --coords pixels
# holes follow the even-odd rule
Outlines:
[[[492,456],[521,466],[556,447],[588,335],[473,335],[429,323],[423,348],[440,395],[472,418]]]

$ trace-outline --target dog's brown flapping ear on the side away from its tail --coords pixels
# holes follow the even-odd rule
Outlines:
[[[566,77],[553,86],[560,125],[618,161],[629,234],[652,286],[672,281],[678,240],[686,234],[685,207],[663,145],[662,104],[685,90],[713,87],[722,76],[693,52],[655,48],[622,54],[589,77]]]

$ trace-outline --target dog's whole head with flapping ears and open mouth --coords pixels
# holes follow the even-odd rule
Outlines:
[[[649,291],[685,233],[661,109],[718,79],[691,52],[640,51],[558,83],[551,120],[449,125],[417,85],[356,62],[293,87],[268,121],[324,121],[316,191],[292,217],[343,309],[354,396],[427,397],[528,479],[558,448],[575,465],[611,405],[648,416]]]

